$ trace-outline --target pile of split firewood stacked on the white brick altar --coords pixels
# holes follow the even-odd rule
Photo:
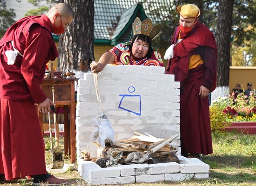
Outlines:
[[[147,133],[135,132],[130,139],[114,141],[113,146],[102,150],[102,156],[94,160],[100,167],[114,167],[135,163],[177,162],[177,150],[169,143],[178,135],[165,139]]]

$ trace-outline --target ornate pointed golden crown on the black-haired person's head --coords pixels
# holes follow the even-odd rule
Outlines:
[[[136,17],[133,23],[133,35],[143,34],[153,39],[160,32],[161,25],[153,26],[153,23],[150,19],[145,19],[141,23],[141,19]]]

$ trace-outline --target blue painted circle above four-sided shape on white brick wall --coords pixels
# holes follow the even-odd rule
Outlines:
[[[130,86],[128,88],[128,91],[130,93],[135,92],[135,87]],[[119,96],[122,96],[121,101],[120,101],[119,106],[118,106],[119,109],[123,109],[123,110],[126,110],[128,112],[134,113],[135,115],[141,115],[141,95],[120,94]],[[122,103],[124,101],[127,101],[127,102],[129,101],[130,104],[122,106]],[[136,101],[137,101],[138,105],[136,105]],[[136,107],[138,109],[135,109]]]

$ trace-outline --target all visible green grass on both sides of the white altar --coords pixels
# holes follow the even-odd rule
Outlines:
[[[213,133],[212,139],[214,153],[202,156],[202,161],[210,166],[209,179],[136,183],[125,186],[256,186],[256,135]],[[44,140],[46,142],[46,162],[50,164],[50,140],[49,138]],[[60,148],[62,149],[63,143],[63,138],[60,138]],[[70,163],[70,159],[65,157],[65,162]],[[76,166],[57,177],[67,179],[68,186],[86,186],[86,182],[82,180]],[[4,185],[31,186],[32,180],[26,180],[25,183],[24,180],[17,180]]]

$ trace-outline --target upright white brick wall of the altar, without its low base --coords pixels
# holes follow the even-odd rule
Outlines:
[[[147,132],[158,138],[179,133],[180,83],[174,82],[173,75],[165,75],[163,67],[106,66],[98,78],[103,110],[115,131],[115,140],[128,138],[134,131]],[[133,93],[128,91],[130,86],[135,87]],[[141,115],[119,109],[122,99],[119,95],[140,95]],[[79,80],[77,100],[77,149],[89,145],[94,156],[97,147],[89,139],[95,128],[90,120],[99,114],[99,108],[93,74],[86,74],[84,80]],[[139,97],[125,97],[121,106],[139,112]],[[179,139],[173,144],[180,153]],[[77,155],[80,156],[80,151]]]

